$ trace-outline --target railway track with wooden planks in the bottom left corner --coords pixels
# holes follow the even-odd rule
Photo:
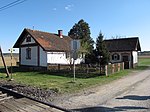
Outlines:
[[[0,86],[0,112],[72,112]]]

